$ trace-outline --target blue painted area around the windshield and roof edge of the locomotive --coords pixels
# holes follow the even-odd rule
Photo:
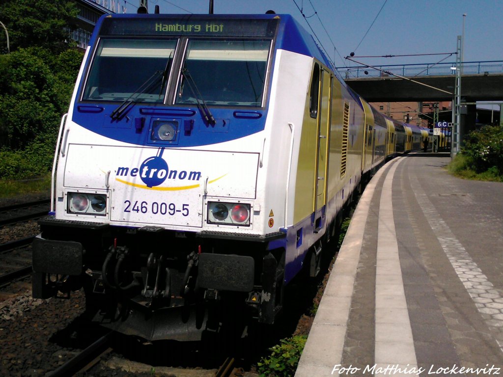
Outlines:
[[[98,39],[99,30],[103,24],[103,20],[107,17],[137,19],[137,18],[156,18],[162,19],[162,15],[112,15],[103,16],[97,23],[95,31],[91,38],[91,45],[94,46]],[[166,15],[173,18],[174,15]],[[190,16],[180,15],[175,16],[180,19],[188,19]],[[272,19],[279,17],[280,23],[276,36],[276,43],[273,51],[284,49],[293,51],[306,56],[313,56],[329,66],[326,57],[321,53],[318,46],[309,35],[290,15],[197,15],[201,19]],[[86,71],[89,69],[92,54],[89,55],[86,62]],[[269,85],[271,87],[272,74],[274,66],[271,67],[269,76]],[[85,83],[85,77],[82,77],[77,89],[76,98],[80,98]],[[184,121],[194,121],[194,132],[190,132],[179,138],[176,144],[164,144],[164,147],[194,147],[202,145],[210,145],[221,143],[238,138],[242,138],[264,130],[265,121],[268,111],[269,93],[266,93],[266,105],[264,109],[243,109],[243,108],[211,108],[211,112],[215,119],[225,120],[225,125],[222,127],[211,127],[204,124],[201,118],[199,109],[196,106],[158,106],[155,109],[148,107],[145,104],[135,104],[128,111],[128,118],[124,117],[121,121],[111,121],[109,114],[117,108],[118,104],[94,104],[86,101],[85,103],[75,102],[73,109],[72,120],[86,129],[105,136],[109,139],[118,140],[136,145],[147,145],[149,142],[148,129],[151,124],[151,119],[160,118],[163,120],[177,120],[181,125],[181,134],[184,135]],[[94,108],[93,108],[94,106]],[[146,110],[148,109],[148,110]],[[152,116],[145,116],[145,113],[153,113]],[[238,114],[236,114],[238,112]],[[142,114],[143,113],[143,114]],[[144,128],[137,130],[135,119],[144,118]],[[225,128],[226,127],[226,128]],[[202,131],[202,132],[198,132]],[[189,136],[187,136],[189,135]]]

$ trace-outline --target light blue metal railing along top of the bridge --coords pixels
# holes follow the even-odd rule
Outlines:
[[[423,63],[423,64],[393,64],[377,65],[374,68],[365,67],[337,67],[343,78],[359,77],[393,77],[393,74],[413,76],[445,76],[455,75],[456,63]],[[467,61],[461,65],[463,74],[503,73],[503,60]],[[388,73],[389,72],[389,73]]]

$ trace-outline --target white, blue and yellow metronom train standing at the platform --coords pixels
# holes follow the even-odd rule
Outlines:
[[[61,121],[33,297],[83,287],[94,320],[149,340],[226,313],[274,323],[359,185],[417,149],[412,128],[291,16],[104,16]]]

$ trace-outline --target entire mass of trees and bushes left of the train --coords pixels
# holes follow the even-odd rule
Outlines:
[[[74,2],[3,0],[0,20],[0,179],[32,178],[50,171],[61,116],[82,61],[70,49]]]

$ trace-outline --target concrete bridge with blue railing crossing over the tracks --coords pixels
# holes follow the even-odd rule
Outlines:
[[[338,67],[338,71],[368,102],[454,99],[456,63]],[[463,62],[461,72],[460,134],[463,137],[475,129],[477,101],[503,101],[503,60]]]

